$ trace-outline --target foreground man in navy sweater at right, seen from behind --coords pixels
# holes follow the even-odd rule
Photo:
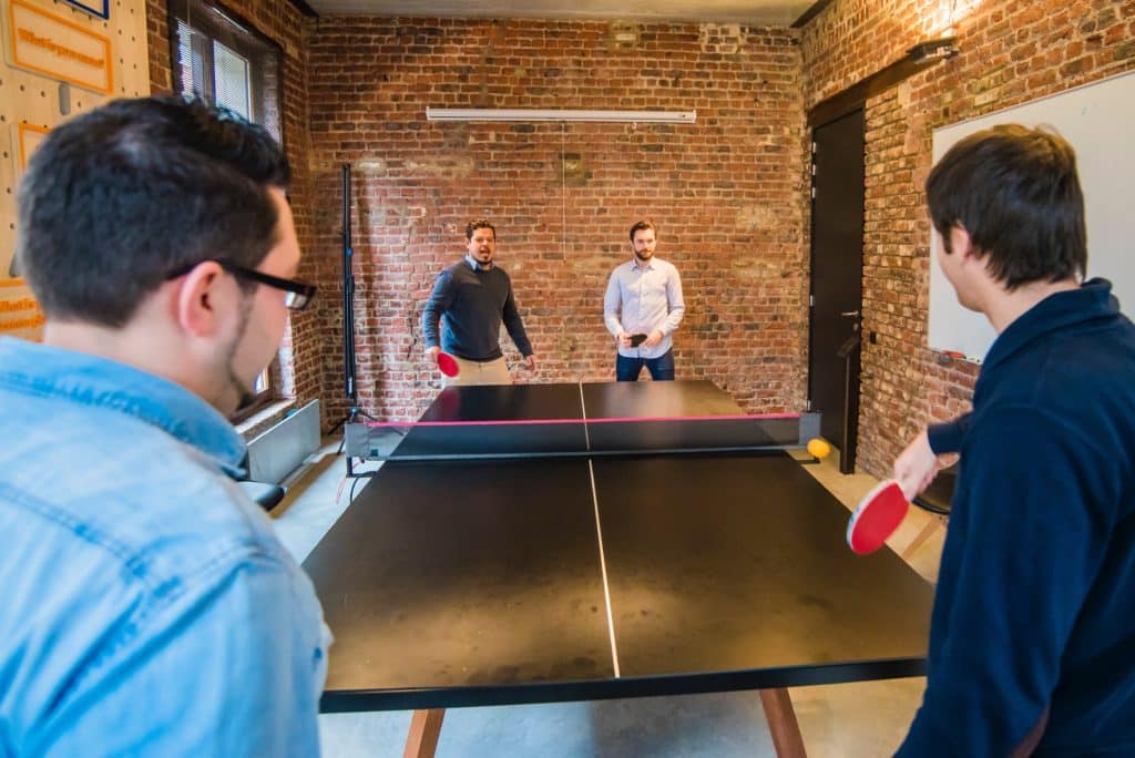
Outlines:
[[[1071,148],[978,132],[931,171],[939,263],[998,332],[973,412],[896,461],[961,464],[926,693],[900,756],[1135,755],[1135,326],[1087,264]]]

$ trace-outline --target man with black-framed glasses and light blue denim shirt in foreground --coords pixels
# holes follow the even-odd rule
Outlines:
[[[313,756],[328,635],[226,420],[314,288],[262,129],[119,100],[18,192],[0,339],[0,756]]]

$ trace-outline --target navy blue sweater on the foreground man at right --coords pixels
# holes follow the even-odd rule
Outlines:
[[[922,708],[900,756],[1135,756],[1135,326],[1109,283],[1054,294],[986,356]]]

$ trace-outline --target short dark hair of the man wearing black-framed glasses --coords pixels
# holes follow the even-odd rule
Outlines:
[[[52,129],[18,191],[16,255],[49,318],[121,327],[175,270],[257,267],[284,151],[200,100],[115,100]]]

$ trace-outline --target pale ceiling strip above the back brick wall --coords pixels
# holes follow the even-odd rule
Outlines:
[[[790,26],[816,0],[306,0],[320,16],[568,18]]]

